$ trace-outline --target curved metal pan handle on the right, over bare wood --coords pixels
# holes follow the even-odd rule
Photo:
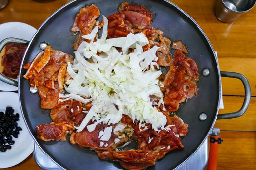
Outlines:
[[[220,75],[222,77],[230,77],[230,78],[240,79],[244,85],[245,96],[244,96],[243,105],[240,108],[240,110],[238,110],[237,112],[233,112],[233,113],[219,114],[217,116],[217,119],[231,119],[231,118],[236,118],[236,117],[242,116],[248,109],[250,99],[251,99],[251,87],[250,87],[250,84],[249,84],[247,78],[244,75],[235,73],[235,72],[220,71]]]

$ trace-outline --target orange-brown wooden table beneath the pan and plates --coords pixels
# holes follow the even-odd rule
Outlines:
[[[39,1],[39,0],[38,0]],[[39,28],[41,23],[59,7],[70,0],[10,0],[0,10],[0,23],[19,21]],[[43,1],[43,0],[41,0]],[[217,120],[215,127],[221,129],[218,170],[256,169],[256,7],[232,24],[221,23],[214,16],[216,0],[171,0],[193,17],[218,52],[220,69],[244,74],[252,89],[248,111],[240,118]],[[240,81],[222,78],[225,109],[219,113],[234,112],[241,107],[244,96]],[[30,155],[10,170],[39,169]]]

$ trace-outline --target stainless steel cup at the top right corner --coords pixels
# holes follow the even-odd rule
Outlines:
[[[217,0],[215,16],[221,22],[233,22],[254,7],[256,0]]]

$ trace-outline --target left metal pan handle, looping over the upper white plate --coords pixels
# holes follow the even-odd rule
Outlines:
[[[23,40],[23,39],[18,39],[18,38],[6,38],[2,42],[0,42],[0,51],[4,48],[4,46],[10,42],[13,43],[19,43],[19,44],[25,44],[28,45],[29,41]],[[14,85],[18,87],[18,82],[16,80],[13,80],[9,77],[6,77],[0,73],[0,80],[9,84],[9,85]]]

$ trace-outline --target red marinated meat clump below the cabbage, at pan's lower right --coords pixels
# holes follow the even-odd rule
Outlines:
[[[166,114],[166,113],[165,113]],[[186,135],[188,125],[179,117],[168,117],[167,125],[164,130],[159,132],[152,130],[150,124],[145,124],[139,129],[138,123],[133,124],[133,137],[138,141],[137,150],[97,150],[101,159],[119,161],[128,170],[141,170],[148,166],[155,165],[156,160],[164,157],[166,153],[175,149],[183,148],[180,135]],[[132,123],[128,117],[123,117],[122,122]]]

